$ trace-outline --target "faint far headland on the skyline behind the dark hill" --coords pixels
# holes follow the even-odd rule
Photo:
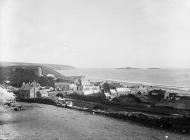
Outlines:
[[[44,66],[53,70],[70,70],[76,69],[73,66],[60,64],[41,64],[41,63],[22,63],[22,62],[0,62],[0,66]]]

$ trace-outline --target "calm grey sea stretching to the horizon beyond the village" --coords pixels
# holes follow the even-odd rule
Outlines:
[[[89,79],[134,82],[190,91],[190,69],[83,68],[59,72],[65,76],[84,75]]]

